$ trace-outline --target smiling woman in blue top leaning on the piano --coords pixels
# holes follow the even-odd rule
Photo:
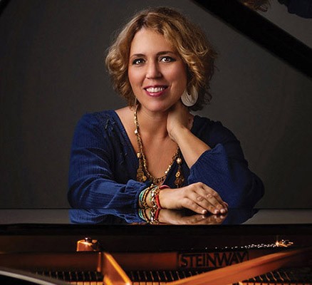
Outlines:
[[[187,208],[226,214],[253,207],[264,188],[235,136],[189,113],[210,99],[216,53],[168,8],[141,11],[108,51],[119,110],[84,115],[73,138],[68,199],[78,208]],[[155,220],[157,212],[140,212]]]

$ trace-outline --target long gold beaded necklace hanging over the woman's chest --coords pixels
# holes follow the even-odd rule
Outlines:
[[[155,185],[158,185],[164,182],[169,170],[171,169],[173,163],[176,161],[178,167],[177,167],[177,172],[175,174],[175,185],[178,188],[181,187],[184,182],[184,177],[182,175],[182,170],[181,170],[182,158],[181,158],[180,147],[177,147],[177,151],[175,152],[175,155],[173,155],[172,162],[170,163],[167,170],[165,171],[165,175],[163,175],[162,177],[154,177],[148,171],[147,161],[143,152],[142,139],[140,136],[140,125],[137,120],[137,107],[135,108],[135,111],[134,111],[135,136],[137,138],[137,147],[139,149],[139,151],[137,152],[137,159],[139,160],[139,166],[137,167],[137,181],[145,182],[146,180],[150,180]]]

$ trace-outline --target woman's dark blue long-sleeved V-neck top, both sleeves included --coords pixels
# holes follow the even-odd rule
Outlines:
[[[239,140],[221,123],[197,115],[192,133],[212,150],[190,169],[182,163],[184,185],[203,182],[231,208],[254,207],[264,186],[249,170]],[[114,110],[83,115],[73,136],[68,201],[74,208],[137,208],[140,192],[150,185],[135,180],[137,166],[135,150]],[[165,185],[175,187],[176,171],[175,162]]]

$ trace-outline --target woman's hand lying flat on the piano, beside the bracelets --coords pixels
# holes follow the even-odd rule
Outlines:
[[[197,214],[225,214],[228,204],[211,187],[197,182],[177,189],[160,191],[160,204],[164,209],[191,209]]]

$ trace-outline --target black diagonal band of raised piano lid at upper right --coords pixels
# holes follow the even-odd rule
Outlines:
[[[298,71],[312,76],[312,49],[279,26],[239,3],[228,0],[193,0],[251,40],[282,58]]]

